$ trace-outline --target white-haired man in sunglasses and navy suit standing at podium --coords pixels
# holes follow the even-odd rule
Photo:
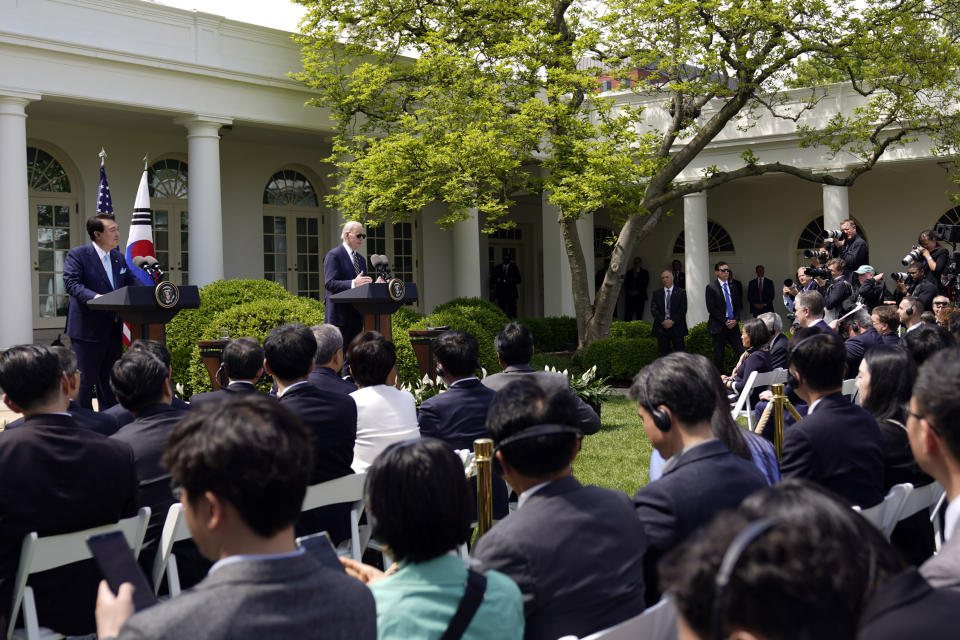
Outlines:
[[[324,314],[327,324],[340,329],[343,346],[348,347],[363,329],[363,316],[349,304],[337,304],[330,296],[353,287],[373,282],[367,275],[367,261],[360,255],[360,245],[367,237],[363,225],[351,220],[343,225],[343,244],[327,252],[323,259],[323,286],[327,290]]]

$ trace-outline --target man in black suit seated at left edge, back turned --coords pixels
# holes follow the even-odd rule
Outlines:
[[[72,381],[42,345],[0,355],[3,401],[24,415],[0,433],[0,625],[7,628],[24,536],[49,536],[110,524],[137,512],[133,452],[80,429],[67,414]],[[66,635],[91,633],[100,573],[93,561],[31,576],[40,625]]]

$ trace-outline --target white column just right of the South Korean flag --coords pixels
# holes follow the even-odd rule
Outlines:
[[[223,278],[220,127],[232,122],[202,115],[177,120],[187,128],[190,284],[202,286]]]

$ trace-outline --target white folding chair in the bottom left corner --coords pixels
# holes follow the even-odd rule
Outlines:
[[[31,531],[23,538],[20,547],[20,565],[17,567],[13,583],[13,604],[10,607],[10,619],[7,621],[6,638],[17,640],[54,640],[64,636],[52,629],[41,627],[37,619],[37,604],[33,588],[27,585],[31,574],[49,571],[74,562],[91,558],[87,547],[87,538],[101,533],[120,531],[133,551],[134,557],[140,555],[143,536],[150,521],[150,507],[141,507],[137,515],[115,524],[108,524],[83,531],[62,533],[55,536],[39,537]],[[23,629],[15,629],[17,611],[22,607]]]

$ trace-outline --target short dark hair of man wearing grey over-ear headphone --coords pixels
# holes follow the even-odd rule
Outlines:
[[[664,405],[685,424],[709,422],[717,406],[716,389],[704,373],[711,366],[701,355],[675,351],[633,377],[630,399],[649,407]]]

